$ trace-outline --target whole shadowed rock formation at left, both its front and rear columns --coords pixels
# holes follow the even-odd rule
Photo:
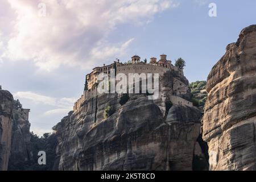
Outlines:
[[[0,171],[19,169],[32,159],[28,111],[7,90],[0,90]]]

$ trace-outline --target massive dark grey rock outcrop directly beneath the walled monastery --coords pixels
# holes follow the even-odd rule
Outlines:
[[[55,126],[55,166],[60,170],[191,170],[201,113],[196,107],[172,106],[174,78],[188,85],[184,76],[167,72],[160,78],[158,100],[148,100],[146,94],[129,94],[123,105],[121,94],[85,100],[79,111],[70,112]],[[105,118],[107,106],[113,114]]]

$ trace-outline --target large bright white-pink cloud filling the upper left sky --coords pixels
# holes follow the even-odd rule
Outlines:
[[[47,71],[61,64],[93,67],[97,61],[124,55],[133,38],[108,42],[117,24],[148,22],[156,13],[177,6],[172,0],[44,0],[46,17],[40,17],[38,0],[8,2],[0,1],[0,11],[13,13],[3,19],[8,31],[1,57],[32,60]]]

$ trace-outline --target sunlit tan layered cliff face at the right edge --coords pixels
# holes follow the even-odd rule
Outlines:
[[[226,48],[208,76],[207,92],[203,138],[210,169],[256,170],[256,25]]]

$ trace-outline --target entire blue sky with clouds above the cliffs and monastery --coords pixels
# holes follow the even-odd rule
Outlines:
[[[255,9],[254,0],[0,0],[0,85],[41,135],[72,110],[85,75],[116,58],[183,57],[188,80],[206,80]]]

